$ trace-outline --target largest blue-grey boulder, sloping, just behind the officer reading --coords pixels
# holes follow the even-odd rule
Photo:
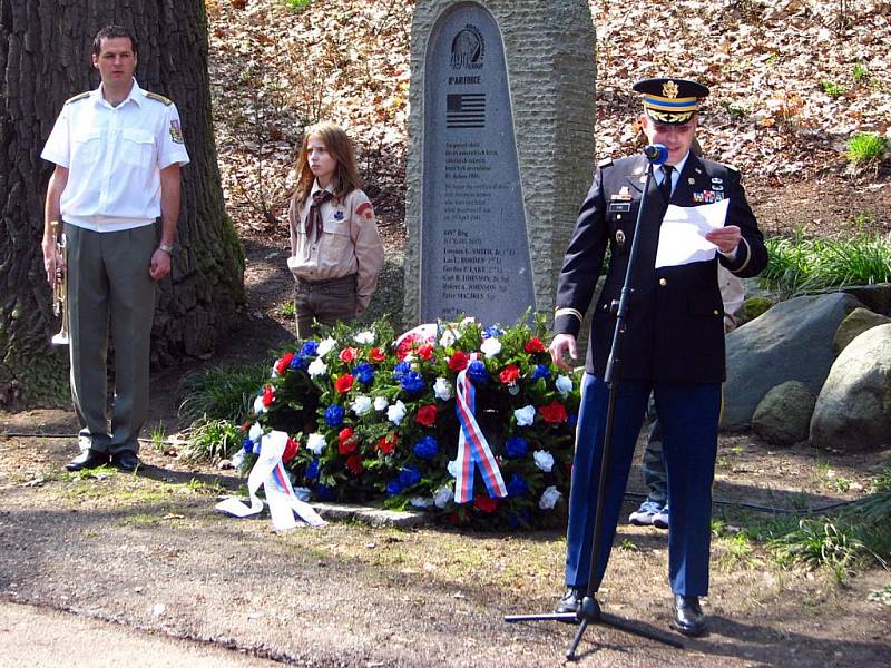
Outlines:
[[[835,358],[835,331],[859,306],[843,293],[795,297],[731,332],[722,428],[746,429],[764,395],[786,381],[819,395]]]

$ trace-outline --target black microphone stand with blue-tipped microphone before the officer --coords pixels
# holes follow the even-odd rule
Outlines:
[[[658,146],[658,145],[656,145]],[[610,626],[617,628],[621,631],[627,633],[634,633],[637,636],[642,636],[644,638],[649,638],[652,640],[657,640],[659,642],[664,642],[665,645],[670,645],[672,647],[677,647],[683,649],[684,644],[679,640],[669,637],[665,633],[662,633],[652,628],[640,628],[634,623],[626,621],[619,617],[615,617],[613,615],[607,615],[600,611],[600,605],[597,602],[595,595],[597,593],[597,589],[594,586],[595,581],[595,573],[597,572],[597,558],[600,551],[600,540],[601,540],[601,531],[604,524],[604,502],[606,500],[606,479],[607,479],[607,470],[609,468],[610,461],[610,450],[613,444],[613,426],[615,423],[615,412],[616,412],[616,397],[618,396],[618,379],[619,370],[621,366],[621,344],[626,334],[626,326],[625,320],[628,315],[629,303],[631,298],[631,293],[634,288],[631,287],[631,276],[634,275],[634,268],[637,264],[637,249],[640,243],[640,235],[638,234],[640,230],[640,220],[644,216],[644,207],[647,204],[647,195],[649,193],[649,184],[653,180],[653,165],[654,164],[663,164],[667,159],[667,150],[664,147],[659,147],[663,149],[664,153],[659,150],[650,150],[655,147],[647,147],[645,155],[649,160],[649,167],[647,168],[647,178],[646,184],[644,185],[644,194],[640,197],[640,208],[637,212],[637,220],[635,222],[634,227],[634,238],[631,240],[631,248],[628,254],[628,268],[625,272],[625,283],[621,287],[621,293],[619,295],[618,301],[614,301],[610,305],[613,312],[616,314],[616,328],[613,333],[613,344],[609,350],[609,357],[606,364],[606,372],[604,374],[604,381],[609,386],[609,401],[607,403],[607,411],[606,411],[606,431],[604,433],[604,446],[600,453],[600,480],[599,487],[597,488],[597,511],[594,515],[594,533],[591,536],[591,563],[590,563],[590,577],[588,578],[588,589],[585,592],[585,597],[581,599],[581,609],[578,612],[549,612],[544,615],[508,615],[505,617],[505,621],[507,622],[516,622],[516,621],[535,621],[535,620],[550,620],[550,621],[565,621],[571,623],[579,623],[578,631],[576,632],[576,637],[572,640],[572,645],[569,646],[569,649],[566,652],[566,658],[570,661],[576,660],[578,657],[576,656],[576,649],[578,648],[579,642],[581,641],[581,637],[585,635],[585,631],[590,625],[600,623],[605,626]]]

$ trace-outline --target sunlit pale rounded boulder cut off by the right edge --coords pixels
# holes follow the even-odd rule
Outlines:
[[[891,324],[868,330],[835,360],[816,397],[811,443],[842,451],[891,448]]]

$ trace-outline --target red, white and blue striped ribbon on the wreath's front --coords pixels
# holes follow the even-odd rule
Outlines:
[[[477,353],[470,361],[478,358]],[[470,364],[468,364],[468,367]],[[489,497],[507,497],[508,490],[501,478],[501,470],[495,460],[489,443],[482,434],[474,416],[477,391],[467,377],[467,367],[458,373],[456,381],[456,411],[461,431],[458,432],[458,479],[454,481],[456,503],[467,503],[473,499],[473,464],[480,468],[482,481],[489,490]]]

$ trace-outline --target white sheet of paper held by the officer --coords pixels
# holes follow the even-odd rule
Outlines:
[[[717,246],[706,242],[705,234],[724,226],[730,202],[686,207],[669,204],[662,220],[656,268],[712,259]]]

